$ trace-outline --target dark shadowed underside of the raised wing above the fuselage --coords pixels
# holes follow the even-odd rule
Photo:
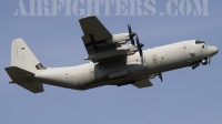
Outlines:
[[[84,35],[82,41],[89,55],[97,58],[99,61],[101,55],[107,54],[108,51],[115,51],[119,44],[108,44],[105,40],[111,39],[112,34],[107,28],[98,20],[97,17],[87,17],[79,20]],[[97,54],[97,55],[95,55]],[[100,54],[100,55],[98,55]],[[87,59],[92,60],[93,59]]]

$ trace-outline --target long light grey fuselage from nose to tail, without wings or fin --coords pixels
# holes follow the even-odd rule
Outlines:
[[[37,70],[34,80],[74,90],[133,84],[137,81],[154,78],[161,72],[192,66],[216,53],[215,46],[189,40],[144,50],[143,63],[137,52],[133,55],[120,56],[121,61],[113,59],[113,62],[91,62],[70,68]]]

